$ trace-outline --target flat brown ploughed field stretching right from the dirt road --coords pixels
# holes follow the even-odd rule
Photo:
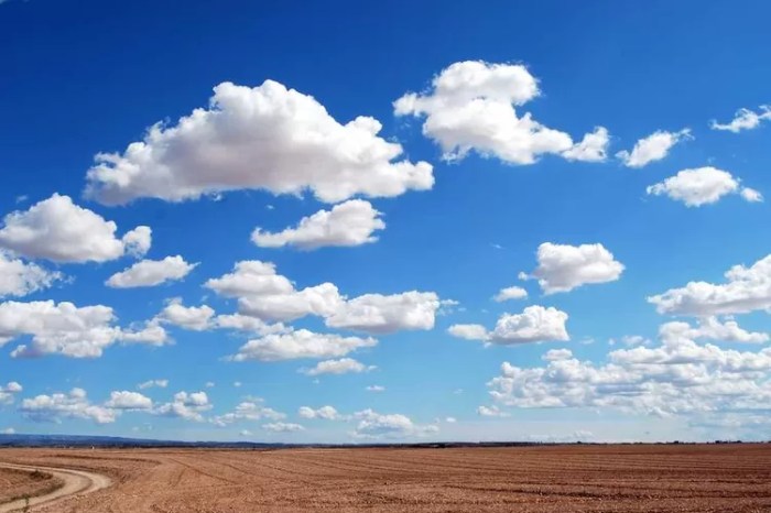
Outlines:
[[[771,446],[4,449],[111,484],[44,512],[768,512]]]

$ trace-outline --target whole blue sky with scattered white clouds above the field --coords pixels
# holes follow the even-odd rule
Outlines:
[[[0,432],[768,439],[769,15],[0,1]]]

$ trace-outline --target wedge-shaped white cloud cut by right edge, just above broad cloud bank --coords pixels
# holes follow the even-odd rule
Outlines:
[[[751,266],[735,265],[726,273],[726,283],[688,282],[650,296],[660,314],[727,315],[771,310],[771,254]]]

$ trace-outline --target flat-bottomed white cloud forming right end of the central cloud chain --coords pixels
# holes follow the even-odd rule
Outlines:
[[[433,292],[404,292],[382,295],[365,294],[343,302],[326,318],[330,328],[346,328],[373,334],[403,329],[433,329],[436,310],[442,306]]]

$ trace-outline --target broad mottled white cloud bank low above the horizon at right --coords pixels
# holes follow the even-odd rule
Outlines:
[[[656,347],[637,346],[608,354],[608,362],[579,361],[567,352],[545,367],[504,362],[488,388],[512,407],[591,407],[680,415],[751,412],[771,407],[771,349],[757,352],[702,345],[696,338],[730,340],[757,335],[713,321],[699,327],[667,323]]]

